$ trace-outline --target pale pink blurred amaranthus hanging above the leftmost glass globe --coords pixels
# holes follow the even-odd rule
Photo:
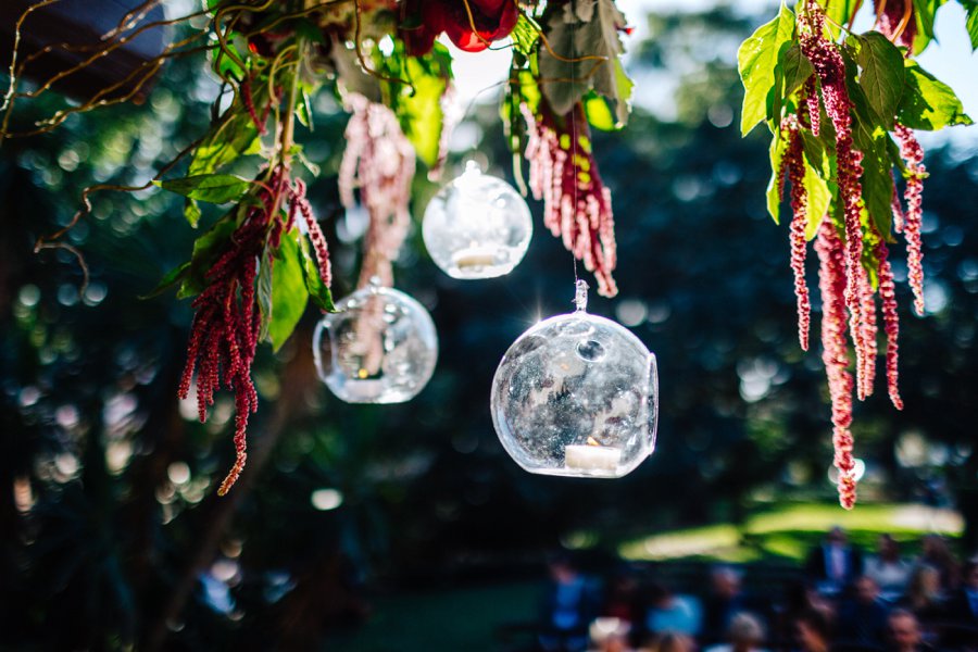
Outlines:
[[[371,216],[360,271],[362,287],[377,277],[392,285],[391,261],[408,235],[411,213],[411,181],[415,153],[401,131],[398,117],[384,104],[351,93],[347,105],[353,112],[347,123],[347,149],[340,163],[340,201],[347,209],[356,205],[354,188]]]

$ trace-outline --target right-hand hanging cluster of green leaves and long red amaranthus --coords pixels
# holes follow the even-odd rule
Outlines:
[[[807,240],[818,254],[823,362],[832,403],[839,500],[855,504],[851,432],[853,390],[873,393],[877,299],[886,335],[890,401],[898,387],[896,297],[889,244],[903,235],[914,310],[924,315],[921,191],[927,171],[914,129],[970,124],[954,92],[913,59],[933,38],[937,4],[876,0],[874,30],[854,34],[863,2],[802,0],[760,27],[738,53],[744,86],[741,129],[772,133],[767,208],[779,220],[785,181],[791,186],[791,268],[798,333],[808,348]],[[969,12],[978,48],[978,8]],[[899,183],[898,183],[899,181]],[[900,185],[903,185],[901,198]],[[850,344],[852,359],[850,359]]]

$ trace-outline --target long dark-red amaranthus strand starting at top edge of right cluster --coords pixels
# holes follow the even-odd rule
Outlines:
[[[863,201],[860,177],[863,174],[863,154],[853,148],[852,101],[845,88],[845,63],[838,46],[826,37],[823,10],[814,2],[806,3],[805,8],[799,14],[799,41],[818,76],[825,112],[836,129],[837,183],[845,224],[845,305],[849,308],[849,328],[855,346],[856,374],[863,387],[868,383],[864,373],[867,369],[865,360],[869,355],[861,300],[866,275],[862,265]]]

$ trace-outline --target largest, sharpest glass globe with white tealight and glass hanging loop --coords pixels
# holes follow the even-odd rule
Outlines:
[[[628,329],[577,311],[540,322],[506,351],[492,379],[492,424],[506,452],[544,475],[617,478],[655,447],[655,355]]]

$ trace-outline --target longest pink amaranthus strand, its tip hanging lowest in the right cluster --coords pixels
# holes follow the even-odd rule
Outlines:
[[[822,361],[832,401],[832,447],[839,471],[839,502],[855,505],[855,460],[852,456],[852,374],[845,339],[845,251],[831,220],[826,216],[815,240],[818,289],[822,293]]]

